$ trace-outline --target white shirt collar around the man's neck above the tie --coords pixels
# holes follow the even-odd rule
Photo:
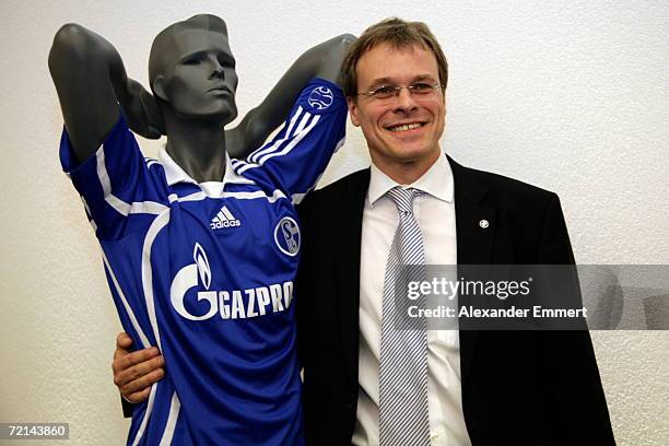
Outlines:
[[[394,187],[413,187],[423,192],[430,193],[434,198],[453,202],[454,184],[453,184],[453,172],[450,171],[450,164],[446,160],[445,154],[441,154],[439,157],[434,162],[432,166],[423,174],[422,177],[416,179],[411,185],[399,185],[397,181],[391,179],[382,169],[379,169],[374,162],[371,166],[369,188],[367,190],[367,199],[369,206],[374,207],[374,203],[386,192]]]

